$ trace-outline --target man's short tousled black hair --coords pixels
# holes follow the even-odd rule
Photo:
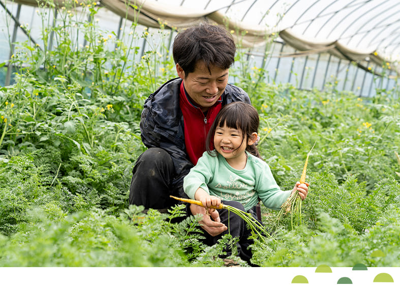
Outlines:
[[[179,32],[172,47],[175,64],[188,75],[199,61],[210,72],[211,66],[228,69],[235,61],[236,45],[232,35],[223,27],[203,22]]]

